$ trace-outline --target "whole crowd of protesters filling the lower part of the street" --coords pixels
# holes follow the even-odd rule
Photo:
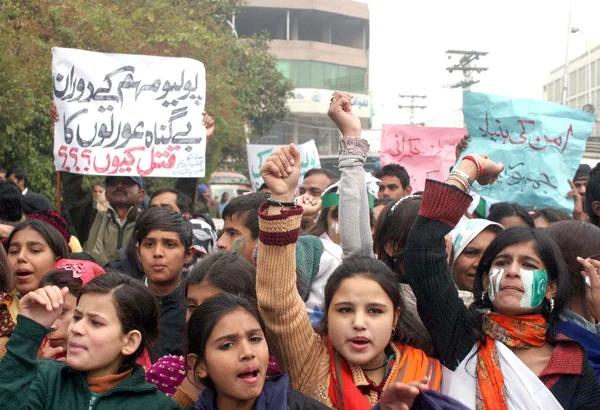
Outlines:
[[[350,94],[328,116],[339,177],[284,145],[235,197],[63,170],[55,207],[0,170],[0,409],[599,409],[600,164],[572,212],[482,211],[508,164],[472,136],[418,190],[365,170]]]

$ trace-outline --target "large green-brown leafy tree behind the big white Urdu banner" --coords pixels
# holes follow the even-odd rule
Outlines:
[[[55,192],[51,48],[189,57],[206,67],[206,109],[217,132],[207,176],[224,158],[246,161],[248,132],[284,118],[289,82],[265,37],[237,40],[226,21],[241,0],[3,0],[0,3],[0,158],[22,166],[32,189]],[[241,164],[238,164],[241,165]],[[239,169],[239,168],[238,168]],[[171,184],[152,179],[148,186]]]

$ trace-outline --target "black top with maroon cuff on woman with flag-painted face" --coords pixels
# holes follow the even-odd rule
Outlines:
[[[452,279],[444,236],[458,223],[471,198],[456,187],[427,181],[419,216],[408,236],[404,263],[417,309],[440,362],[455,370],[477,336],[474,321]],[[581,374],[560,375],[550,388],[565,409],[600,408],[600,384],[583,350]]]

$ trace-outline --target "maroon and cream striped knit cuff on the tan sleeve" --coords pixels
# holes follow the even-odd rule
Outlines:
[[[268,205],[262,204],[258,209],[260,233],[258,238],[265,245],[286,246],[296,243],[300,235],[302,207],[284,209],[280,214],[267,215]]]

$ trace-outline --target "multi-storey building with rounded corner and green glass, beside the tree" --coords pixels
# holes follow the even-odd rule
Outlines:
[[[334,90],[354,95],[354,106],[369,128],[369,10],[351,0],[249,0],[235,16],[240,38],[267,31],[277,69],[294,87],[290,115],[255,144],[315,140],[320,155],[336,155],[339,132],[327,117]]]

